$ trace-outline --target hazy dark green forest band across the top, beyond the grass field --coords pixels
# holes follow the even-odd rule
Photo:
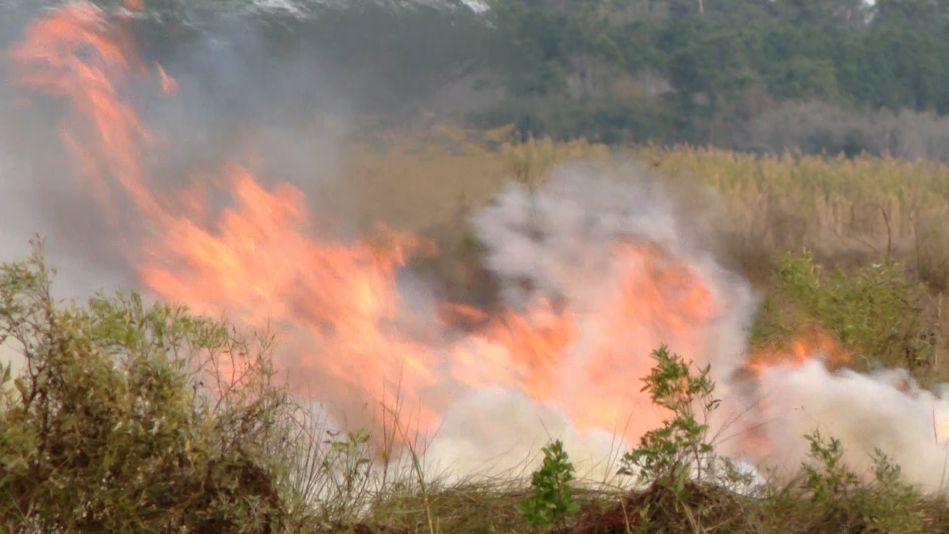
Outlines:
[[[257,58],[245,78],[294,94],[329,84],[390,121],[949,161],[947,0],[261,4],[146,0],[140,42],[195,67],[210,60],[194,41],[227,35],[228,53]],[[274,57],[319,68],[288,75]],[[193,70],[217,73],[218,105],[241,98],[233,72]]]

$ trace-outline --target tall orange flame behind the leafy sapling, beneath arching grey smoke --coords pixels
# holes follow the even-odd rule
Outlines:
[[[708,342],[707,327],[718,307],[698,272],[654,243],[615,247],[619,289],[601,304],[598,348],[586,362],[586,380],[594,391],[578,391],[568,413],[580,429],[613,429],[623,423],[635,443],[665,413],[648,397],[633,394],[650,372],[646,357],[660,345],[696,358]],[[627,420],[635,417],[634,420]]]

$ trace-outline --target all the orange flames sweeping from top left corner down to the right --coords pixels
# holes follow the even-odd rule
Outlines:
[[[687,262],[656,244],[617,243],[610,273],[617,290],[583,307],[541,292],[520,310],[444,304],[440,323],[428,327],[435,334],[426,337],[403,328],[412,311],[398,279],[412,257],[432,252],[419,238],[384,228],[353,242],[320,238],[297,188],[265,187],[236,162],[211,184],[158,195],[146,155],[160,138],[141,123],[128,94],[129,83],[150,69],[122,20],[85,3],[50,11],[9,53],[16,80],[70,104],[63,142],[95,200],[121,228],[140,219],[144,237],[128,255],[141,283],[155,296],[201,314],[224,313],[243,327],[269,322],[282,343],[278,364],[302,394],[364,418],[363,403],[400,392],[419,403],[414,420],[402,423],[427,433],[454,388],[501,386],[557,405],[578,429],[640,417],[626,432],[632,441],[657,422],[639,393],[648,353],[670,344],[692,356],[709,342],[706,327],[720,312],[716,295]],[[155,70],[161,91],[174,94],[177,82],[163,67]],[[140,217],[118,218],[117,192]],[[218,213],[216,196],[230,199]],[[816,349],[833,352],[832,340],[817,333],[788,353],[754,353],[747,369],[800,362]]]

